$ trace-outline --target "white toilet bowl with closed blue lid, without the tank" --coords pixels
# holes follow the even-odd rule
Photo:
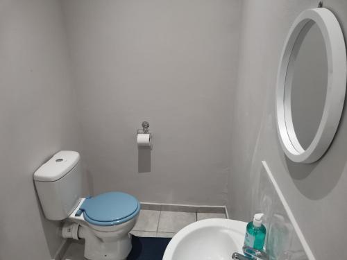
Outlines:
[[[126,259],[131,250],[129,232],[135,226],[139,208],[139,202],[127,193],[82,198],[67,218],[62,236],[85,239],[87,259]]]

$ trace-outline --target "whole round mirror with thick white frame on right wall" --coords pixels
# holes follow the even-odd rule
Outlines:
[[[346,49],[335,16],[305,10],[294,21],[277,80],[280,143],[294,162],[315,162],[328,149],[346,91]]]

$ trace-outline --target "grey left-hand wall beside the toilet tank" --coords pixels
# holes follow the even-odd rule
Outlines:
[[[51,259],[59,223],[44,219],[34,171],[78,150],[61,6],[0,1],[0,259]]]

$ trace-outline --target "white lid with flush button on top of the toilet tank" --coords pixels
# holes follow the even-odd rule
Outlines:
[[[61,150],[35,171],[34,180],[55,182],[69,173],[76,166],[79,159],[79,153],[72,150]]]

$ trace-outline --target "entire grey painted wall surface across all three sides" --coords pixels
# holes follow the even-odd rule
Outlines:
[[[328,153],[310,165],[285,158],[274,117],[282,44],[318,1],[242,2],[240,21],[240,1],[62,1],[94,193],[204,205],[228,198],[230,216],[249,220],[250,182],[264,159],[316,259],[347,258],[337,225],[347,217],[346,113]],[[347,35],[347,2],[324,5]],[[0,7],[0,259],[49,259],[59,223],[44,219],[32,175],[56,151],[81,150],[60,5]],[[138,168],[143,120],[154,132],[150,172]]]

